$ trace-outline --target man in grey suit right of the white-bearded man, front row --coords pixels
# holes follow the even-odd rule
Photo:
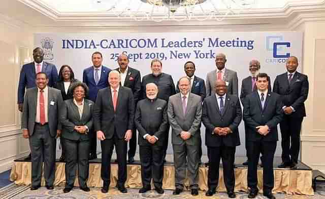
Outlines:
[[[190,93],[190,80],[185,76],[179,79],[180,94],[175,94],[168,101],[168,119],[172,127],[172,144],[175,164],[175,191],[183,191],[186,171],[192,195],[198,195],[199,145],[202,116],[202,102],[199,95]]]

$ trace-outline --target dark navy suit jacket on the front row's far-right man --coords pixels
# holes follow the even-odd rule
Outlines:
[[[280,95],[269,91],[262,109],[261,100],[256,91],[245,97],[243,106],[243,118],[248,141],[259,141],[262,139],[264,141],[277,141],[277,125],[283,118]],[[270,132],[266,136],[262,136],[256,130],[256,127],[264,125],[268,125],[270,128]]]

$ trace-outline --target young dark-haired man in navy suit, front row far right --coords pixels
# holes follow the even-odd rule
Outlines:
[[[248,174],[250,188],[248,197],[255,198],[257,189],[257,164],[259,153],[263,151],[263,195],[275,199],[273,159],[278,140],[277,125],[283,118],[282,102],[278,94],[268,90],[268,75],[256,76],[257,91],[244,99],[243,118],[247,127],[248,138]]]

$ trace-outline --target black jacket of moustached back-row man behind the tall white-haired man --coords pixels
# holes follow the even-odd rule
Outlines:
[[[119,71],[119,68],[115,68],[115,70]],[[130,88],[133,92],[135,104],[141,99],[141,74],[140,71],[127,67],[127,74],[125,77],[123,87]]]

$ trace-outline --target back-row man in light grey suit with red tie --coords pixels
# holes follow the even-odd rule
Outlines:
[[[225,81],[225,84],[228,88],[228,94],[238,96],[237,72],[225,68],[225,62],[227,62],[227,59],[223,53],[219,53],[216,55],[215,65],[217,66],[217,68],[207,74],[207,97],[212,94],[215,94],[213,88],[217,79]]]

